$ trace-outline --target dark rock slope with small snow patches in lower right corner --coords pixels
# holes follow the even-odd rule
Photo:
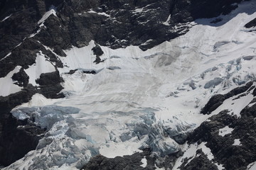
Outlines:
[[[242,95],[245,95],[252,92],[253,89],[255,89],[255,86],[252,86],[252,82],[250,82],[223,96],[233,96],[242,93],[244,93]],[[216,99],[216,96],[209,101],[213,106],[214,102],[218,103],[218,100],[214,99]],[[193,131],[188,137],[188,142],[190,144],[207,142],[206,147],[213,154],[214,162],[222,164],[225,169],[246,169],[248,164],[256,161],[255,99],[251,103],[252,106],[246,106],[242,109],[240,118],[230,114],[230,111],[221,111],[218,115],[213,115],[209,118],[210,121],[202,123]],[[208,108],[208,113],[212,110],[212,107]],[[221,135],[220,131],[225,127],[231,130]],[[204,161],[207,159],[205,154],[198,153],[198,155],[200,156],[192,158],[190,162],[184,162],[181,165],[181,169],[216,169],[213,162],[208,162],[209,160]],[[198,159],[200,157],[201,159]],[[209,167],[210,164],[215,167]]]

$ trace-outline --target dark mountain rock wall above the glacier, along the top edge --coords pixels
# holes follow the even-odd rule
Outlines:
[[[232,5],[235,2],[240,0],[4,1],[1,3],[4,10],[0,18],[11,16],[0,23],[0,33],[4,36],[0,38],[0,58],[6,57],[9,52],[11,55],[0,61],[4,69],[0,77],[16,65],[26,68],[33,64],[38,50],[56,60],[53,52],[65,56],[63,49],[71,45],[82,47],[90,40],[112,48],[139,45],[146,50],[183,35],[189,28],[186,23],[196,18],[229,13],[236,8]],[[19,7],[13,4],[19,4]],[[55,8],[57,15],[50,15],[41,26],[38,21],[49,8]],[[53,52],[43,45],[52,48]],[[61,67],[61,64],[57,66]]]

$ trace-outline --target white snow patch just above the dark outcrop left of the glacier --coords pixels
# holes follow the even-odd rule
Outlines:
[[[24,71],[28,74],[28,83],[38,86],[39,84],[36,83],[36,79],[39,79],[42,73],[55,72],[55,67],[46,59],[45,55],[38,53],[36,55],[36,63],[28,69],[24,69]]]

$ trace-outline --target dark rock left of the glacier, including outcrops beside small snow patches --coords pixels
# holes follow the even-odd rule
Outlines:
[[[37,127],[33,120],[16,120],[10,111],[12,108],[31,100],[33,94],[43,94],[47,98],[62,98],[58,94],[62,86],[59,72],[41,74],[38,79],[39,88],[28,84],[28,75],[23,69],[14,74],[12,79],[18,81],[19,86],[25,86],[22,91],[6,97],[0,96],[0,164],[8,166],[21,159],[27,152],[36,149],[45,130]]]

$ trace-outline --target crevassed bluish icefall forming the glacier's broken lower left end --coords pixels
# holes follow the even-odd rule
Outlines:
[[[116,157],[141,152],[139,149],[146,147],[161,156],[177,152],[176,142],[164,137],[162,125],[156,124],[154,111],[140,108],[130,112],[88,114],[63,106],[17,108],[13,111],[14,116],[31,117],[48,132],[36,151],[29,152],[9,168],[19,164],[27,169],[24,161],[34,169],[55,169],[65,164],[80,168],[97,154]]]

